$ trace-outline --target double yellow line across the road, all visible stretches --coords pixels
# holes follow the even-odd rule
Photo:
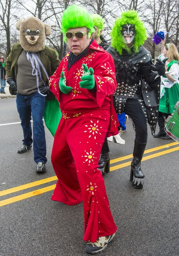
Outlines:
[[[159,156],[162,156],[164,154],[168,154],[168,153],[179,150],[179,146],[171,148],[175,145],[179,145],[179,143],[173,142],[173,143],[162,145],[162,146],[159,146],[159,147],[156,147],[156,148],[147,149],[147,150],[144,151],[144,154],[148,154],[148,153],[151,153],[151,152],[154,152],[154,151],[159,151],[161,149],[162,149],[162,151],[159,151],[155,154],[147,155],[146,157],[142,158],[142,161],[152,159],[154,157],[159,157]],[[169,147],[170,147],[170,149],[166,149],[166,148],[169,148]],[[132,157],[133,157],[133,155],[130,154],[130,155],[127,155],[127,156],[124,156],[124,157],[115,158],[115,159],[110,161],[110,164],[118,163],[118,162],[130,159]],[[112,172],[114,170],[117,170],[117,169],[121,169],[121,168],[126,167],[126,166],[130,166],[130,163],[131,163],[131,161],[112,166],[112,167],[110,167],[110,172]],[[11,189],[6,189],[6,190],[3,190],[3,191],[0,191],[0,197],[4,196],[4,195],[12,194],[14,192],[19,192],[19,191],[24,190],[24,189],[29,189],[29,188],[32,188],[32,187],[35,187],[35,186],[39,186],[39,185],[42,185],[42,184],[45,184],[45,183],[49,183],[49,182],[52,182],[54,180],[57,180],[57,176],[52,176],[52,177],[49,177],[49,178],[46,178],[46,179],[37,180],[37,181],[27,183],[27,184],[24,184],[24,185],[21,185],[21,186],[17,186],[17,187],[11,188]],[[3,201],[0,201],[0,207],[4,206],[4,205],[7,205],[7,204],[12,204],[14,202],[17,202],[17,201],[20,201],[20,200],[23,200],[23,199],[26,199],[26,198],[30,198],[30,197],[35,196],[35,195],[41,195],[41,194],[43,194],[45,192],[48,192],[48,191],[51,191],[53,189],[55,189],[55,184],[51,185],[51,186],[44,187],[42,189],[34,190],[32,192],[24,193],[22,195],[17,195],[17,196],[14,196],[12,198],[5,199]]]

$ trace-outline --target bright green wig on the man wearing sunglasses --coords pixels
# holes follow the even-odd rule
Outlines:
[[[90,38],[95,29],[93,28],[94,25],[89,13],[81,6],[69,6],[62,15],[61,32],[64,33],[64,41],[67,42],[65,33],[68,29],[84,26],[90,29],[88,33],[88,38]]]

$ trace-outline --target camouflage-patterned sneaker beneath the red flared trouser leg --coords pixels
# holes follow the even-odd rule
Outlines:
[[[103,251],[107,247],[107,244],[110,241],[112,241],[114,237],[115,237],[115,233],[111,236],[101,236],[94,243],[87,242],[85,250],[87,251],[87,253],[91,253],[91,254],[101,253],[101,251]]]

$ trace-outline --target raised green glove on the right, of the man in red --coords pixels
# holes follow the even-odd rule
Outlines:
[[[83,76],[81,76],[81,82],[79,82],[81,88],[92,90],[95,87],[95,79],[93,76],[94,70],[92,67],[89,68],[82,64]]]

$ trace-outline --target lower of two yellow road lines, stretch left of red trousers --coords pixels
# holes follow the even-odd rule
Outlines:
[[[53,189],[55,189],[55,185],[47,186],[45,188],[38,189],[38,190],[29,192],[29,193],[25,193],[25,194],[22,194],[22,195],[14,196],[12,198],[0,201],[0,207],[4,206],[4,205],[7,205],[7,204],[12,204],[12,203],[17,202],[17,201],[21,201],[21,200],[26,199],[26,198],[30,198],[30,197],[35,196],[35,195],[41,195],[41,194],[43,194],[45,192],[48,192],[48,191],[51,191]]]

